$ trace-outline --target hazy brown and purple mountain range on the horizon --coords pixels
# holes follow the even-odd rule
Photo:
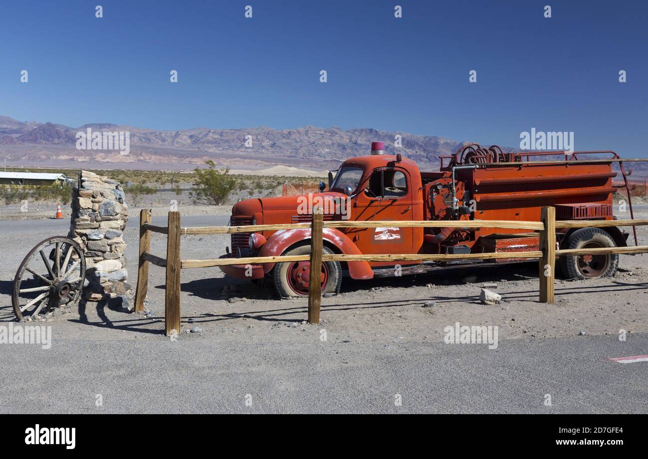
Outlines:
[[[77,150],[76,133],[85,133],[88,128],[91,131],[128,132],[130,153],[120,155],[116,150]],[[378,129],[305,126],[296,129],[258,127],[160,131],[111,123],[73,128],[0,116],[0,157],[6,157],[7,165],[14,166],[191,170],[211,159],[218,166],[246,170],[277,165],[325,170],[337,168],[349,157],[369,154],[372,141],[385,142],[386,150],[395,151],[396,135],[402,139],[399,152],[424,168],[438,168],[439,155],[452,154],[466,143]],[[251,139],[251,146],[246,146],[246,139]]]

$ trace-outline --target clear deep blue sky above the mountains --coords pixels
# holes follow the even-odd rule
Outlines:
[[[0,115],[508,146],[536,128],[645,156],[647,15],[644,1],[3,1]]]

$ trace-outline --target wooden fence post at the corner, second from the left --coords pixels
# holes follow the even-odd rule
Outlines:
[[[168,213],[165,332],[180,333],[180,213]]]

